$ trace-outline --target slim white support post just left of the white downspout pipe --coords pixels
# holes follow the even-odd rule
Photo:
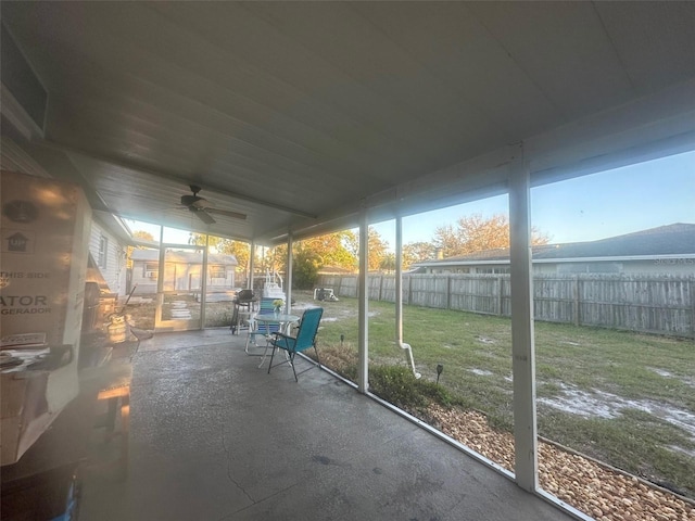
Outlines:
[[[359,220],[359,276],[357,277],[357,334],[359,340],[357,390],[366,393],[369,390],[369,334],[367,328],[368,300],[367,274],[369,272],[369,226],[367,225],[367,212],[363,211]]]

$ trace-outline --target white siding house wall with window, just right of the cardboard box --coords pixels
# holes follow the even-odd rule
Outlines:
[[[102,219],[93,215],[87,280],[98,282],[101,293],[126,294],[126,247],[129,243],[129,230],[125,225],[111,216]]]

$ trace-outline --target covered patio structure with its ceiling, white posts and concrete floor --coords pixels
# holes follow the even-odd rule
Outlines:
[[[288,274],[296,241],[359,228],[358,392],[268,378],[228,331],[157,334],[136,359],[130,476],[90,484],[85,519],[561,519],[538,483],[530,189],[695,149],[695,3],[4,2],[2,18],[3,170],[77,185],[114,226],[287,244]],[[404,216],[498,194],[518,486],[368,398],[369,226],[395,221],[400,258]]]

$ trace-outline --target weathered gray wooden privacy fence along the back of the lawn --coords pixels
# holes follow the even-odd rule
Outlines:
[[[321,276],[318,287],[357,296],[356,275]],[[395,276],[369,276],[369,298],[395,302]],[[511,315],[508,275],[404,275],[403,303]],[[534,318],[549,322],[695,338],[695,278],[648,275],[536,275]]]

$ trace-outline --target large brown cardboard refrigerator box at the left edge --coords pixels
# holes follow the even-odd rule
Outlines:
[[[73,183],[0,171],[0,456],[17,461],[79,391],[91,208]]]

